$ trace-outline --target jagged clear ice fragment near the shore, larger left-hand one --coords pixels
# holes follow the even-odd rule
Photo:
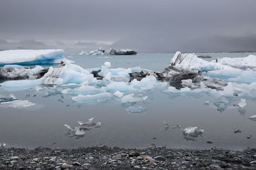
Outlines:
[[[94,118],[89,118],[87,122],[78,121],[78,127],[71,127],[70,125],[64,124],[65,127],[68,129],[67,135],[70,137],[76,137],[77,139],[84,137],[85,131],[90,131],[92,127],[100,127],[100,122],[93,122]]]

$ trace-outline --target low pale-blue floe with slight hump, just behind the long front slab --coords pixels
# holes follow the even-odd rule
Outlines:
[[[82,85],[81,87],[78,87],[76,89],[65,89],[61,93],[62,94],[101,94],[106,92],[106,89],[104,87],[97,88],[90,85]]]

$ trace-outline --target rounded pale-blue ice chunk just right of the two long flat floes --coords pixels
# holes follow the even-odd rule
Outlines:
[[[115,93],[117,90],[122,93],[131,93],[134,91],[131,85],[128,85],[127,83],[120,81],[120,82],[112,82],[109,83],[106,87],[107,92]]]

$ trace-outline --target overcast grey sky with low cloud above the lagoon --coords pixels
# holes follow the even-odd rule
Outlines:
[[[0,39],[102,41],[145,52],[256,50],[255,0],[1,0]]]

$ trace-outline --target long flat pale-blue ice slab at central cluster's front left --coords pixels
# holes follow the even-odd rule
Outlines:
[[[82,95],[79,94],[76,97],[72,97],[73,101],[77,103],[97,103],[97,102],[106,102],[111,100],[112,95],[108,92],[102,94],[93,94],[93,95]]]

